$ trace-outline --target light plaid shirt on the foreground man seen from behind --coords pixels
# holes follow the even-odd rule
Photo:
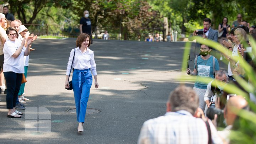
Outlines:
[[[222,143],[216,128],[209,121],[212,143]],[[208,144],[206,123],[187,111],[167,112],[144,122],[138,144]]]

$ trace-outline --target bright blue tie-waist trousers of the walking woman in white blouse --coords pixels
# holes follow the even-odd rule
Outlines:
[[[72,77],[72,86],[74,91],[76,117],[78,122],[84,123],[91,85],[92,75],[90,69],[74,69]]]

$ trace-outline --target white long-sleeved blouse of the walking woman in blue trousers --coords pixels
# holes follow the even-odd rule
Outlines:
[[[97,75],[96,63],[94,60],[94,52],[87,48],[86,52],[82,53],[79,47],[75,48],[75,58],[73,68],[78,70],[91,69],[93,75]],[[74,49],[71,50],[66,75],[69,75],[73,60]]]

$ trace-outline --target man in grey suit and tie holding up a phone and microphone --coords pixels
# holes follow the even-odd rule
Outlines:
[[[212,26],[212,21],[210,20],[210,18],[204,18],[204,28],[195,30],[193,34],[188,38],[188,40],[193,41],[195,38],[192,38],[192,36],[202,36],[205,39],[211,39],[215,42],[218,42],[218,32],[216,30],[213,30],[210,26]],[[197,34],[198,31],[203,31],[203,34]],[[196,43],[195,48],[201,48],[201,44]]]

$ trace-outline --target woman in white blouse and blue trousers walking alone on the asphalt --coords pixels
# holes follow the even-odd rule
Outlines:
[[[72,87],[75,97],[76,105],[76,117],[79,122],[78,132],[83,132],[83,124],[85,120],[85,113],[87,102],[89,99],[90,88],[92,85],[92,74],[94,75],[94,85],[95,88],[98,88],[97,82],[97,71],[96,64],[94,60],[94,52],[90,50],[91,41],[90,36],[86,33],[81,33],[76,39],[76,47],[72,49],[69,56],[68,66],[66,70],[66,81],[65,87],[69,87],[69,74],[70,69],[74,68],[73,77],[72,77]],[[75,56],[74,56],[75,51]],[[73,61],[73,65],[71,65]],[[91,69],[91,71],[90,71]]]

